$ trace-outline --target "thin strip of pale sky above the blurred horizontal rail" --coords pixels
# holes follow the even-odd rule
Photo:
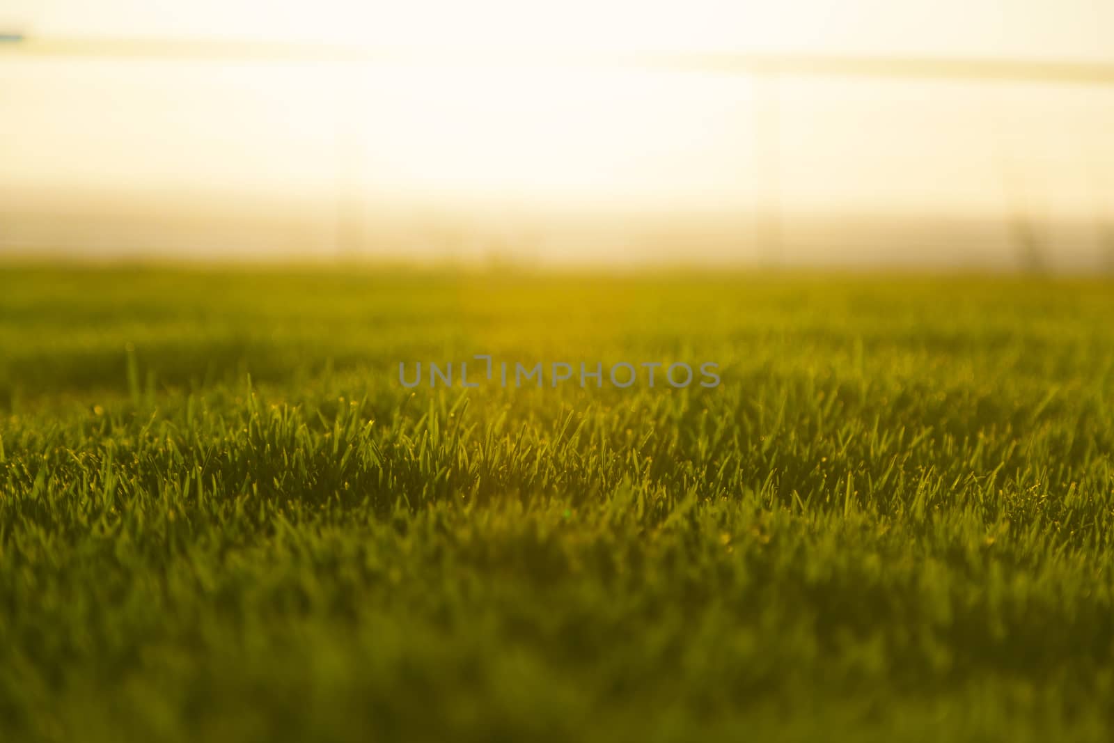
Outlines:
[[[42,35],[1114,59],[1111,0],[4,0]]]

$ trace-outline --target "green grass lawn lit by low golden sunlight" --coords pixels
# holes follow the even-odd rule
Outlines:
[[[0,740],[1111,740],[1112,393],[1097,280],[9,266]]]

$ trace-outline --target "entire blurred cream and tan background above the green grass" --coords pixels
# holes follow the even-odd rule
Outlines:
[[[0,6],[0,255],[1114,270],[1108,0]]]

